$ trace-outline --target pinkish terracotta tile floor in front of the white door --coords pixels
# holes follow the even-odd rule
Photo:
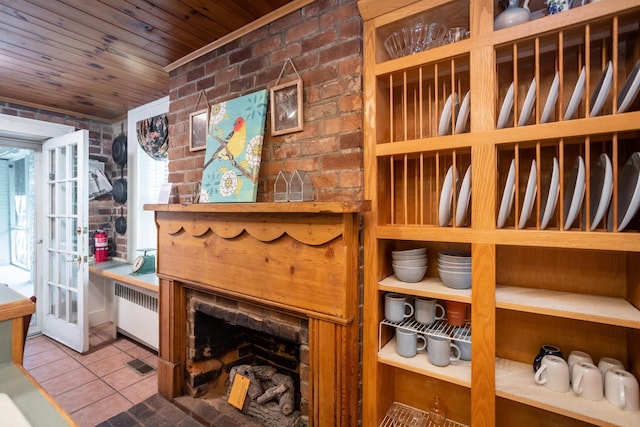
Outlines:
[[[94,427],[158,391],[155,370],[140,375],[125,365],[138,358],[155,368],[157,354],[126,337],[113,340],[112,328],[92,328],[86,354],[43,335],[25,346],[25,369],[81,427]]]

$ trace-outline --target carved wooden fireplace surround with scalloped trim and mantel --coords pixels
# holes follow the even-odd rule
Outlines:
[[[188,289],[308,319],[309,423],[357,424],[358,254],[367,202],[147,205],[158,228],[158,391],[185,394]]]

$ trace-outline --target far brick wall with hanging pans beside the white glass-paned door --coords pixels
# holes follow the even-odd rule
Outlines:
[[[113,139],[120,134],[120,124],[105,123],[96,120],[79,118],[68,114],[57,113],[52,111],[41,110],[32,107],[25,107],[18,104],[0,101],[0,114],[23,117],[27,119],[35,119],[43,122],[58,123],[67,126],[73,126],[76,130],[85,129],[89,131],[89,157],[105,162],[105,172],[107,177],[113,179],[120,177],[120,170],[111,158],[111,144]],[[126,129],[126,122],[124,123]],[[127,176],[127,168],[125,166],[124,176]],[[110,237],[115,236],[115,220],[120,216],[120,205],[115,203],[111,196],[103,196],[100,200],[89,202],[89,233],[93,232],[103,224],[110,223],[112,231],[109,232]],[[126,216],[126,204],[124,205],[124,214]],[[126,234],[116,236],[116,256],[126,258],[127,256],[127,240]]]

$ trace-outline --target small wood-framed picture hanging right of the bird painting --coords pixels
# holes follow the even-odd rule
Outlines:
[[[271,135],[302,130],[302,79],[270,89]]]

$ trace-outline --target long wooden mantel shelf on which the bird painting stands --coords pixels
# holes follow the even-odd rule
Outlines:
[[[357,213],[371,210],[369,200],[354,202],[147,204],[147,211],[193,213]]]

